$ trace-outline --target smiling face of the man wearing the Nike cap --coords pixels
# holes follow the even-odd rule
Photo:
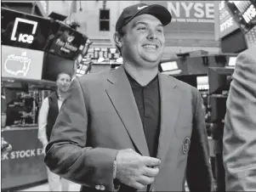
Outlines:
[[[122,57],[134,65],[156,67],[164,44],[161,21],[151,14],[141,14],[124,27]]]

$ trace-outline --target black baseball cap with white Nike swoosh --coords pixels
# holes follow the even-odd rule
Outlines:
[[[164,26],[168,25],[172,20],[172,14],[170,14],[168,9],[162,5],[138,3],[122,10],[122,14],[117,20],[116,31],[119,31],[122,26],[127,25],[129,21],[133,20],[140,14],[151,14],[160,20]]]

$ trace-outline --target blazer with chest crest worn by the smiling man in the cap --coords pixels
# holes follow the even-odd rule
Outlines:
[[[187,179],[191,191],[210,191],[212,173],[201,95],[196,88],[160,73],[159,84],[157,157],[162,163],[151,189],[182,191]],[[94,191],[96,185],[113,191],[113,161],[118,150],[128,148],[149,155],[123,67],[74,79],[46,149],[50,170],[82,184],[83,191]],[[124,189],[121,185],[119,191]]]

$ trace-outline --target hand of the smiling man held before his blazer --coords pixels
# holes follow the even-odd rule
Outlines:
[[[152,184],[161,163],[159,159],[139,155],[131,149],[119,150],[116,161],[116,178],[134,189],[143,189],[146,185]]]

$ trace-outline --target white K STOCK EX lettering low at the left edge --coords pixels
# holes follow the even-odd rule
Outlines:
[[[24,159],[33,156],[43,155],[43,148],[37,150],[16,150],[10,153],[2,155],[2,161],[4,160],[14,160],[14,159]]]

